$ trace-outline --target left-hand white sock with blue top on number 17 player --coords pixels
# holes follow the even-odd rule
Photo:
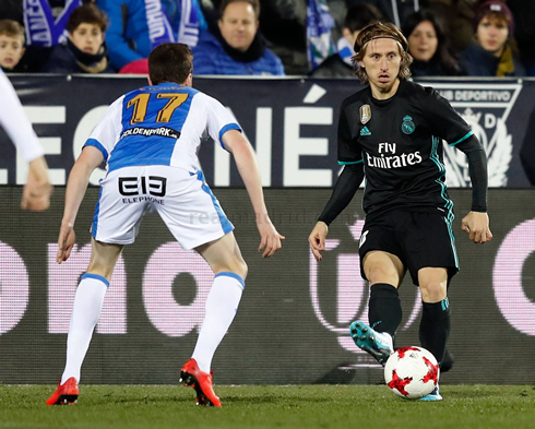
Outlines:
[[[67,336],[67,362],[61,384],[71,377],[80,382],[80,370],[90,347],[109,282],[97,274],[84,274],[76,289]]]

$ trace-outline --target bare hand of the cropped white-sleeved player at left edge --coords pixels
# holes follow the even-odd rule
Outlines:
[[[33,212],[41,212],[50,206],[52,186],[48,181],[48,167],[41,156],[29,163],[26,184],[22,192],[21,207]]]

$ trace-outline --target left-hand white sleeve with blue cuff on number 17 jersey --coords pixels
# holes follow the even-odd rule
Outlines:
[[[85,146],[95,146],[103,153],[104,159],[108,159],[114,146],[119,141],[122,129],[122,100],[124,96],[115,100],[97,123]]]

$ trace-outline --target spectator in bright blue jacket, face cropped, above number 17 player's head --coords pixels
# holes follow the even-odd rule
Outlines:
[[[193,47],[197,37],[194,41],[179,37],[180,7],[185,1],[194,10],[202,33],[206,23],[198,0],[97,0],[97,5],[106,12],[110,22],[106,39],[111,65],[121,71],[132,61],[148,58],[156,46],[167,41],[180,41]],[[146,64],[146,61],[142,62]]]

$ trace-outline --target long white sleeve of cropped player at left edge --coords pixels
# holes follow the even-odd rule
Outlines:
[[[8,76],[0,70],[0,126],[3,127],[16,150],[26,162],[32,162],[45,152],[35,134],[32,123],[24,114],[22,104]]]

